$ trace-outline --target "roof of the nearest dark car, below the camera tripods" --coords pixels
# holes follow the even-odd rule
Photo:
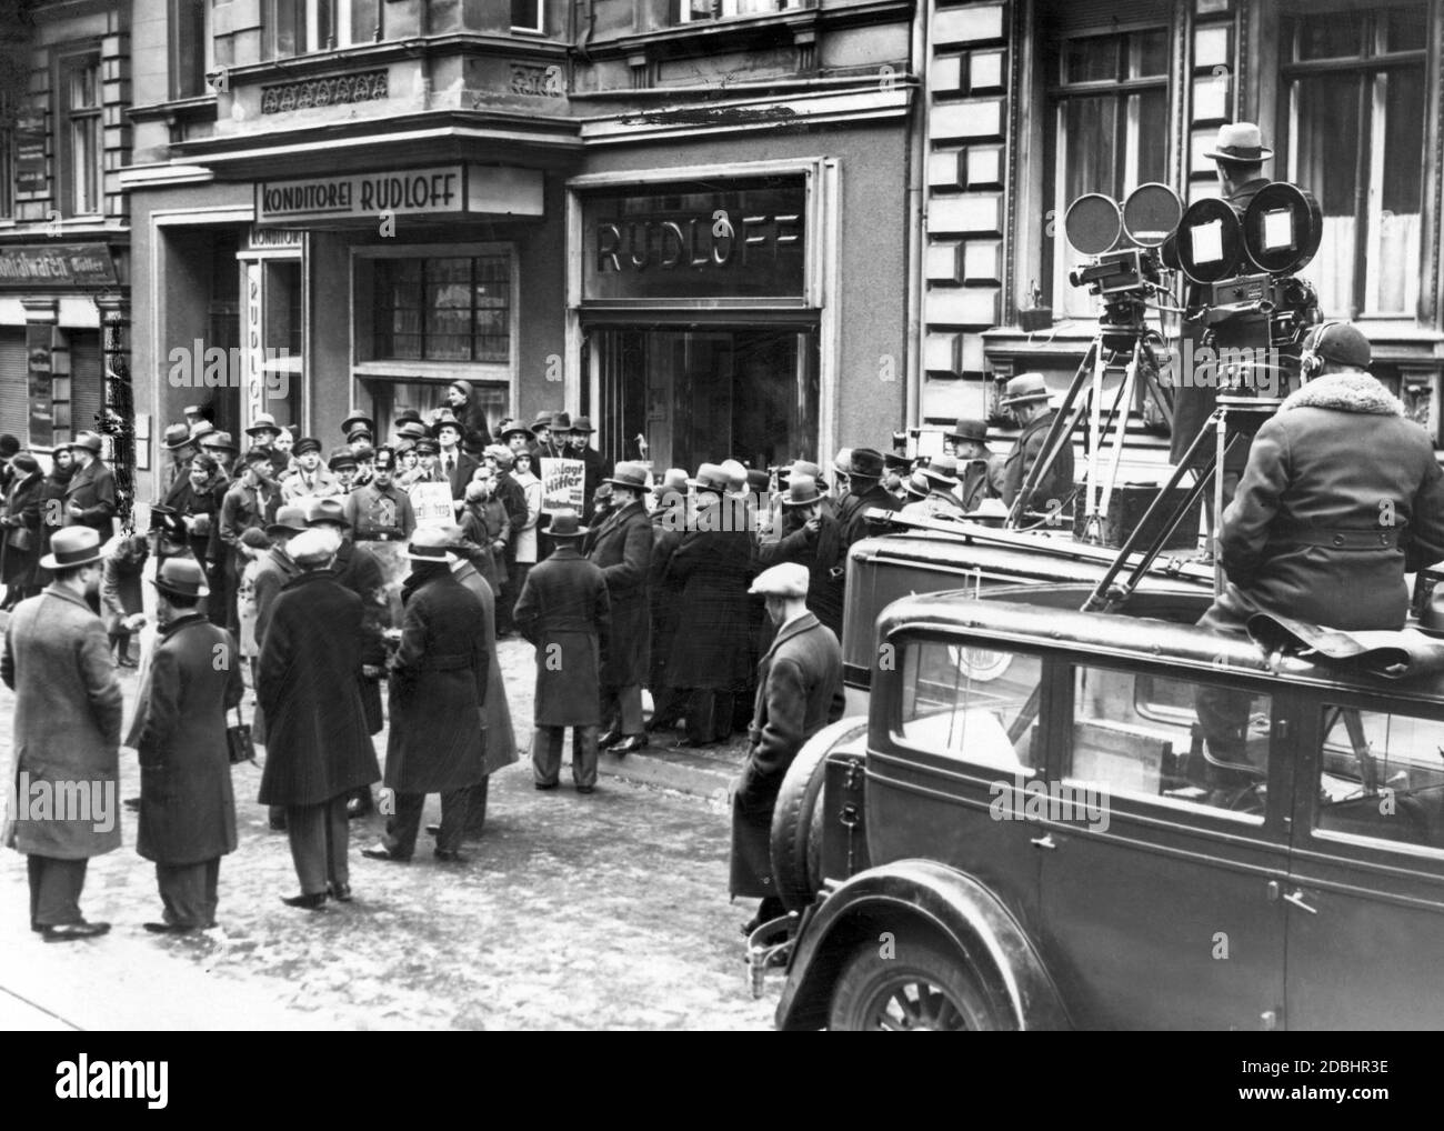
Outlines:
[[[1051,591],[1054,599],[1031,598]],[[982,597],[957,591],[894,601],[878,618],[879,638],[901,631],[967,631],[999,643],[1034,646],[1112,660],[1164,660],[1217,675],[1261,676],[1289,685],[1347,690],[1393,701],[1444,703],[1444,675],[1389,679],[1360,669],[1326,667],[1297,656],[1269,666],[1264,649],[1249,637],[1177,624],[1154,617],[1082,612],[1060,607],[1060,594],[1086,595],[1084,586],[1006,586]],[[1444,644],[1441,644],[1444,647]]]

